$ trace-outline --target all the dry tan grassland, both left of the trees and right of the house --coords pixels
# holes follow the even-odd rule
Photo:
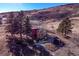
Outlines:
[[[61,21],[60,21],[61,22]],[[40,25],[41,27],[43,27],[43,29],[47,30],[48,31],[48,34],[51,35],[51,36],[57,36],[59,37],[66,45],[62,48],[59,48],[58,50],[56,51],[50,51],[50,53],[52,55],[55,55],[55,56],[77,56],[79,55],[79,38],[78,39],[65,39],[63,38],[61,35],[59,35],[58,33],[56,33],[56,29],[59,25],[60,22],[52,22],[51,20],[49,21],[45,21],[45,22],[42,22],[42,24]],[[72,21],[73,23],[73,33],[75,33],[75,37],[77,36],[78,37],[78,34],[79,34],[79,20],[73,20]],[[6,39],[6,35],[7,33],[5,32],[5,25],[2,25],[0,26],[0,56],[10,56],[12,55],[11,52],[9,52],[9,49],[7,48],[7,39]],[[73,35],[71,35],[72,37]],[[73,36],[74,37],[74,36]],[[54,46],[51,46],[50,44],[49,45],[46,45],[47,47],[51,47],[52,50],[53,50],[53,47]],[[51,50],[49,48],[49,50]]]

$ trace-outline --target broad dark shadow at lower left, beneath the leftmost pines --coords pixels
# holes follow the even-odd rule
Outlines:
[[[27,42],[18,40],[16,37],[8,38],[7,47],[15,56],[32,56],[35,55],[35,51],[28,47]]]

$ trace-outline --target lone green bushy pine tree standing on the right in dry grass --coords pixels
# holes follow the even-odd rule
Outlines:
[[[57,29],[58,32],[62,33],[64,36],[67,36],[67,34],[72,32],[72,23],[69,18],[64,19]]]

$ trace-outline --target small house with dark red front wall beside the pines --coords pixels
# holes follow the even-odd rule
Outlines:
[[[32,27],[32,38],[33,39],[42,39],[46,35],[46,31],[38,26]]]

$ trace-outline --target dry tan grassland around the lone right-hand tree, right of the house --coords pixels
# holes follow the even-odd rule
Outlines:
[[[76,19],[76,18],[75,18]],[[52,32],[56,32],[56,29],[58,27],[58,24],[60,22],[52,22],[49,21],[48,23],[44,23],[44,27],[46,30],[50,31],[50,35],[51,36],[57,36],[59,37],[63,42],[65,42],[65,46],[63,48],[60,48],[58,50],[56,50],[55,52],[52,52],[52,54],[56,55],[56,56],[77,56],[79,55],[79,17],[77,17],[77,20],[73,20],[73,29],[72,29],[72,35],[70,35],[72,38],[71,39],[65,39],[63,38],[60,34],[53,34]],[[77,39],[74,39],[73,37],[78,37]]]

